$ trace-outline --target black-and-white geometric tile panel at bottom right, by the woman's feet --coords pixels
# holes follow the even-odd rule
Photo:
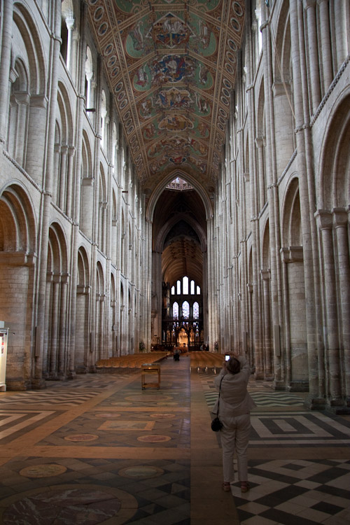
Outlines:
[[[248,478],[232,485],[241,525],[349,523],[350,461],[249,461]]]

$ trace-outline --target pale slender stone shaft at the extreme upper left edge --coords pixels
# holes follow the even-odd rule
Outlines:
[[[0,59],[0,144],[6,143],[8,128],[8,93],[11,62],[13,0],[3,0]]]

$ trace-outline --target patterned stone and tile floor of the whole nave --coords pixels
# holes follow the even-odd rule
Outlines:
[[[349,522],[350,416],[310,411],[304,393],[251,382],[251,491],[225,493],[210,429],[215,376],[189,365],[162,360],[159,390],[125,372],[1,392],[0,523]]]

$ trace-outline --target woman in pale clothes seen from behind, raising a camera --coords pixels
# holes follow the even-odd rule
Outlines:
[[[221,428],[221,446],[223,448],[223,490],[230,491],[230,484],[235,480],[233,457],[236,452],[238,479],[241,492],[249,490],[248,448],[251,432],[250,411],[255,407],[247,391],[251,367],[242,356],[232,353],[230,360],[223,363],[220,374],[214,384],[220,390],[219,418],[223,423]],[[218,401],[213,412],[218,410]]]

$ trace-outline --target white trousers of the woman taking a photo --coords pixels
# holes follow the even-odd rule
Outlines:
[[[235,481],[233,457],[236,452],[239,481],[248,479],[248,448],[251,433],[251,414],[236,417],[221,417],[223,428],[220,430],[221,447],[223,448],[223,480]]]

